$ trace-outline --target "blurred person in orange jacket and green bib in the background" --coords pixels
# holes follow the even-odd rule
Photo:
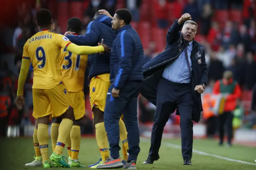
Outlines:
[[[233,111],[236,109],[236,100],[241,96],[241,89],[239,84],[233,80],[233,74],[231,71],[225,71],[223,73],[222,80],[217,80],[213,87],[213,94],[228,94],[226,97],[226,103],[224,106],[224,112],[219,115],[219,145],[223,145],[224,138],[224,124],[227,125],[228,145],[231,146],[231,140],[233,135],[232,120]]]

